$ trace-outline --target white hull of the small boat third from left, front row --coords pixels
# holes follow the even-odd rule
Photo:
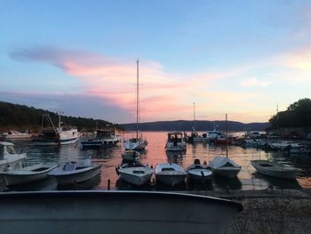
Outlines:
[[[69,171],[65,173],[62,173],[62,170],[59,170],[60,168],[56,168],[52,170],[49,175],[55,177],[58,184],[60,185],[86,182],[100,174],[100,166],[101,165],[94,165],[92,168],[87,170],[76,169],[75,171]]]

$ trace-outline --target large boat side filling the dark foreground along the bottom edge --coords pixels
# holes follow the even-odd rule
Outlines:
[[[240,203],[154,191],[0,193],[1,233],[225,233]]]

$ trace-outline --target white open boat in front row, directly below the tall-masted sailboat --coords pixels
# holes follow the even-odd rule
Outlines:
[[[150,182],[150,178],[154,173],[154,169],[148,165],[142,165],[139,162],[128,163],[116,168],[116,172],[125,182],[134,185],[143,185]]]

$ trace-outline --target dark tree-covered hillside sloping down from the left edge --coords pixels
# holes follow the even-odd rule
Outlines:
[[[43,114],[49,114],[54,125],[58,125],[58,115],[48,110],[35,109],[25,105],[12,104],[9,102],[0,101],[0,130],[26,130],[26,129],[41,129]],[[46,121],[45,121],[46,122]],[[64,125],[76,126],[79,130],[82,128],[106,128],[113,124],[101,120],[85,117],[67,117],[61,116],[61,122]],[[119,125],[115,125],[119,128]]]

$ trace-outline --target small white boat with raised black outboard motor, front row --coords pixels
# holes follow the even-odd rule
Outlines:
[[[207,181],[212,178],[211,168],[208,165],[201,164],[198,158],[195,158],[193,165],[187,167],[187,174],[190,180]]]

